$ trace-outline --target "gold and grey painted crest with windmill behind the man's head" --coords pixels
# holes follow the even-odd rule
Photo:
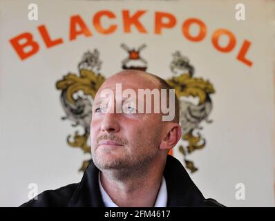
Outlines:
[[[122,69],[146,70],[148,62],[140,57],[140,51],[146,47],[145,44],[142,44],[137,50],[131,49],[125,44],[121,46],[129,53],[128,57],[122,61]],[[65,113],[61,119],[70,120],[73,122],[73,127],[80,126],[82,128],[81,132],[75,131],[74,135],[68,135],[67,143],[71,147],[81,148],[84,153],[90,155],[89,134],[93,99],[106,79],[99,72],[101,66],[102,61],[99,59],[98,50],[85,52],[78,65],[78,75],[68,73],[56,83],[56,88],[61,90],[61,105]],[[195,69],[189,59],[181,55],[180,51],[173,53],[170,68],[171,77],[166,81],[176,89],[180,104],[182,140],[178,143],[178,150],[183,156],[186,168],[194,173],[198,171],[198,168],[188,158],[191,153],[206,146],[206,139],[200,134],[201,124],[202,122],[211,122],[209,114],[213,105],[210,96],[215,93],[215,90],[209,80],[193,77]],[[84,171],[90,160],[82,162],[79,171]]]

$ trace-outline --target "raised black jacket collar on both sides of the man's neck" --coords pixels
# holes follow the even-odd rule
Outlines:
[[[91,160],[81,182],[70,198],[68,206],[104,207],[98,184],[99,170]],[[171,155],[167,156],[164,168],[167,183],[167,206],[202,206],[205,198],[193,183],[182,164]]]

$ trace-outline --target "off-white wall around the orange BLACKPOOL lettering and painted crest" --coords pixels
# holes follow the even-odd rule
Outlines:
[[[28,4],[34,1],[0,1],[0,206],[18,206],[28,200],[28,184],[39,192],[79,182],[77,173],[84,155],[66,144],[67,135],[77,128],[61,121],[64,110],[55,83],[77,64],[87,50],[97,48],[103,64],[100,72],[108,77],[121,69],[126,52],[121,43],[138,47],[149,61],[148,71],[167,79],[172,53],[180,50],[195,66],[194,77],[209,79],[216,89],[210,119],[201,131],[207,146],[190,155],[199,171],[194,182],[206,197],[227,206],[274,206],[274,1],[242,1],[246,20],[236,21],[238,1],[35,1],[39,20],[28,21]],[[111,35],[96,32],[91,20],[99,10],[117,15],[117,31]],[[135,29],[125,34],[121,10],[147,10],[140,19],[148,34]],[[178,23],[162,35],[153,32],[155,11],[169,12]],[[68,40],[69,19],[81,15],[92,37]],[[182,22],[197,17],[207,25],[207,37],[193,43],[183,37]],[[64,44],[46,49],[37,26],[45,24],[53,38]],[[211,44],[218,28],[231,30],[236,47],[225,54]],[[31,32],[39,42],[36,55],[21,61],[9,43],[12,37]],[[243,41],[252,42],[247,57],[249,67],[236,59]],[[225,40],[225,39],[223,39]],[[273,44],[273,48],[272,48]],[[273,54],[274,55],[274,54]],[[274,61],[274,60],[273,60]],[[78,127],[80,130],[81,128]],[[180,153],[175,155],[182,159]],[[243,183],[246,199],[236,200],[235,185]]]

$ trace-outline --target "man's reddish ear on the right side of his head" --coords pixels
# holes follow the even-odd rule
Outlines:
[[[165,133],[165,137],[160,143],[160,149],[169,151],[171,148],[176,146],[176,144],[178,144],[180,137],[182,137],[182,128],[180,124],[177,123],[167,122],[167,124],[167,131]]]

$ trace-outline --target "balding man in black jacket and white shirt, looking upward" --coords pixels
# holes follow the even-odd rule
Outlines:
[[[151,100],[142,99],[145,93],[133,95],[142,89],[167,93]],[[44,191],[22,206],[222,206],[205,199],[182,164],[168,155],[182,135],[178,99],[169,89],[160,77],[138,70],[109,77],[93,102],[93,161],[82,181]],[[171,120],[164,120],[167,104]]]

